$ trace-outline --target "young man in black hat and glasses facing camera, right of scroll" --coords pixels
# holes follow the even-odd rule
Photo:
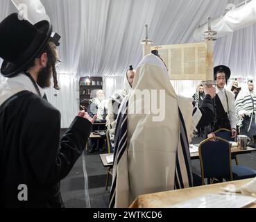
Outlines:
[[[234,106],[234,93],[225,89],[231,71],[225,65],[214,67],[214,80],[216,80],[216,96],[214,98],[215,118],[212,131],[226,128],[231,130],[230,137],[237,136],[236,113]],[[210,135],[212,136],[212,135]]]

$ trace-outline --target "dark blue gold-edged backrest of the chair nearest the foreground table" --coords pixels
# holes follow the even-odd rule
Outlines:
[[[204,178],[232,178],[230,144],[221,137],[205,139],[199,144],[202,185]]]

